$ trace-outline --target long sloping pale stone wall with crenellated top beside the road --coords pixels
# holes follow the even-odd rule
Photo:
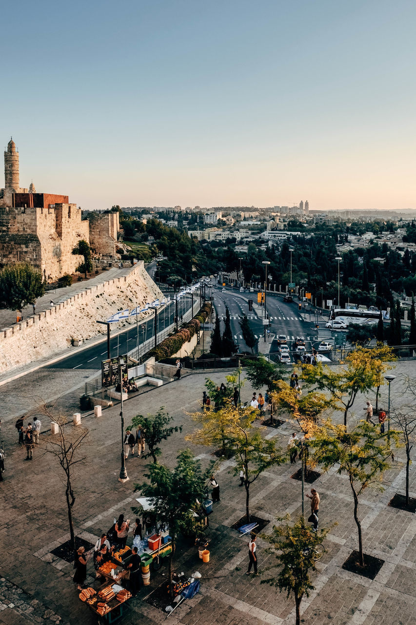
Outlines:
[[[97,324],[97,319],[106,321],[118,310],[143,306],[162,297],[159,287],[145,271],[144,262],[139,261],[127,276],[84,287],[56,306],[1,329],[0,373],[66,350],[70,354],[71,339],[86,341],[99,334],[106,335],[107,327]]]

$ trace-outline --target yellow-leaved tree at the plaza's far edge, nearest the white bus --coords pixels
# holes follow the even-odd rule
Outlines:
[[[394,352],[387,346],[372,349],[357,347],[337,370],[327,365],[323,367],[321,362],[305,364],[300,377],[308,386],[330,392],[340,408],[344,409],[344,426],[347,427],[347,416],[357,394],[365,394],[381,384],[380,376],[391,368],[388,362],[394,359]]]

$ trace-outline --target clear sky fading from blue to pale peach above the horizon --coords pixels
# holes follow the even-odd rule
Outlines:
[[[415,24],[414,0],[7,2],[0,137],[83,209],[416,208]]]

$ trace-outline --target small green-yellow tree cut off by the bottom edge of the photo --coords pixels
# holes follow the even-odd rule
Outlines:
[[[315,587],[310,581],[309,572],[316,571],[317,561],[315,548],[321,544],[330,531],[330,527],[314,532],[312,527],[305,526],[305,519],[300,516],[293,524],[290,517],[278,518],[277,521],[287,521],[284,525],[274,525],[272,534],[262,534],[261,537],[269,542],[267,549],[274,554],[280,567],[276,577],[262,579],[260,584],[269,584],[280,591],[295,597],[296,625],[300,625],[300,603],[304,596],[309,597]],[[270,571],[267,568],[267,571]]]

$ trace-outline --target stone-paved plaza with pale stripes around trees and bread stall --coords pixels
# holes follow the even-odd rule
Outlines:
[[[400,363],[395,373],[412,374],[413,369],[413,363]],[[74,387],[88,373],[79,371],[79,377],[73,380]],[[224,373],[210,377],[220,384]],[[182,434],[174,434],[164,442],[161,462],[173,466],[177,452],[189,446],[184,436],[194,429],[195,424],[186,412],[200,409],[205,378],[202,374],[186,376],[125,402],[127,425],[129,417],[156,412],[165,406],[174,417],[174,423],[183,426]],[[401,384],[397,379],[392,386],[394,401],[401,395]],[[251,391],[246,382],[242,389],[244,401],[249,399]],[[383,405],[386,391],[386,387],[382,387]],[[30,386],[26,392],[28,398],[36,395]],[[74,392],[70,396],[73,397]],[[7,399],[9,416],[6,421],[2,419],[7,471],[6,481],[0,485],[0,623],[92,624],[96,617],[79,601],[72,582],[72,565],[51,554],[54,547],[69,537],[62,469],[49,454],[42,452],[42,439],[47,432],[41,434],[41,443],[34,450],[34,460],[24,462],[26,451],[16,444],[10,409],[11,391]],[[365,399],[357,398],[354,411],[358,417],[364,415]],[[28,399],[28,403],[32,406],[34,400]],[[22,397],[16,397],[16,412],[22,412],[23,404]],[[59,405],[64,406],[64,401]],[[69,413],[72,412],[71,405]],[[121,446],[119,412],[117,405],[103,411],[100,418],[86,414],[82,419],[82,426],[89,429],[89,443],[84,447],[86,464],[76,470],[73,479],[76,495],[73,514],[77,536],[90,542],[109,529],[114,517],[120,513],[134,518],[131,506],[139,496],[134,493],[134,484],[142,481],[146,471],[143,459],[129,457],[130,481],[125,484],[117,481]],[[42,430],[46,429],[44,419]],[[285,448],[295,429],[285,422],[279,429],[267,429],[265,434],[276,437]],[[203,464],[213,458],[212,450],[191,447]],[[245,576],[248,539],[230,527],[244,514],[245,491],[239,488],[238,477],[230,472],[232,466],[231,459],[220,464],[216,471],[221,501],[214,504],[214,512],[209,517],[209,563],[202,564],[196,548],[189,544],[177,552],[178,571],[184,571],[186,576],[196,570],[201,572],[201,591],[169,616],[169,621],[173,625],[209,625],[214,622],[220,625],[292,625],[294,601],[266,584],[260,584],[261,576]],[[270,469],[250,488],[252,514],[270,521],[265,532],[270,531],[276,516],[286,513],[295,516],[301,511],[300,482],[290,477],[295,469],[289,462]],[[410,494],[416,496],[414,471],[412,468],[410,471]],[[357,548],[358,542],[347,478],[332,469],[314,482],[321,497],[320,526],[335,521],[337,525],[325,541],[327,552],[317,563],[318,570],[313,575],[315,591],[302,602],[301,618],[305,624],[405,625],[414,622],[416,519],[410,512],[387,505],[395,492],[404,492],[404,477],[404,451],[400,450],[392,468],[384,476],[384,492],[367,489],[360,502],[364,551],[384,560],[374,581],[342,569],[343,562]],[[309,510],[308,504],[309,500],[305,502],[306,510]],[[131,541],[132,537],[127,544]],[[259,571],[273,561],[265,549],[266,543],[259,539]],[[95,576],[92,561],[87,570],[92,580]],[[162,566],[157,574],[152,574],[151,587],[142,588],[132,599],[131,610],[124,622],[138,624],[146,621],[153,625],[166,620],[165,612],[144,601],[144,597],[164,579],[166,567]]]

